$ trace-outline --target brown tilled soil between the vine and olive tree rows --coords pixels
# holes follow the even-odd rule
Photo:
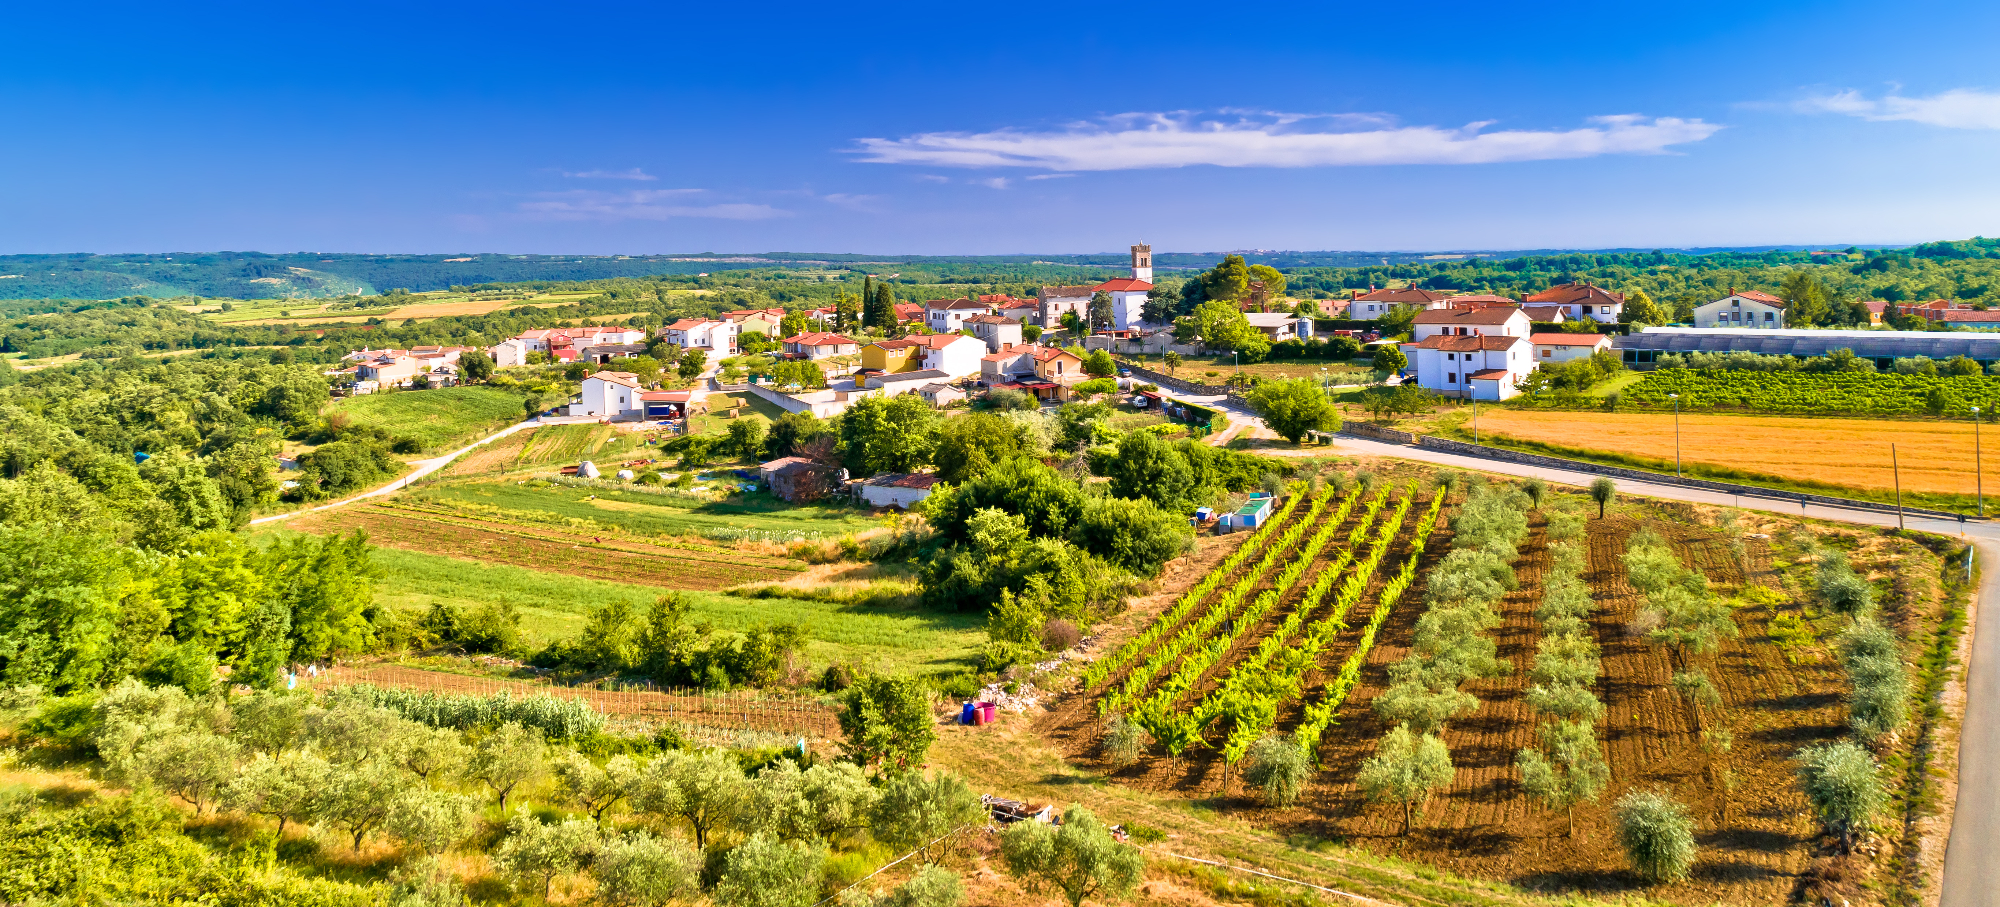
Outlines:
[[[1676,511],[1670,517],[1648,517],[1646,525],[1668,535],[1682,559],[1710,575],[1720,593],[1744,581],[1726,537],[1698,525],[1692,511],[1684,515]],[[1818,855],[1820,845],[1818,829],[1806,817],[1806,801],[1796,791],[1790,757],[1804,745],[1846,733],[1844,675],[1838,665],[1824,649],[1812,649],[1802,663],[1792,665],[1768,637],[1770,619],[1778,613],[1798,613],[1800,605],[1744,607],[1736,611],[1742,637],[1696,657],[1696,665],[1714,677],[1726,703],[1724,715],[1708,715],[1708,725],[1722,725],[1734,733],[1732,749],[1710,757],[1700,747],[1684,705],[1668,687],[1672,667],[1666,653],[1626,629],[1644,597],[1626,583],[1622,553],[1626,537],[1642,521],[1632,515],[1590,521],[1586,581],[1602,607],[1592,623],[1604,649],[1598,693],[1604,697],[1606,717],[1600,723],[1600,737],[1612,767],[1612,785],[1596,803],[1576,809],[1576,833],[1570,837],[1560,813],[1550,815],[1526,799],[1514,769],[1516,751],[1536,743],[1534,713],[1524,693],[1540,637],[1534,607],[1542,595],[1540,573],[1548,563],[1548,551],[1542,519],[1536,517],[1534,523],[1532,537],[1522,545],[1522,559],[1516,563],[1520,589],[1506,595],[1500,607],[1504,625],[1494,629],[1500,655],[1514,663],[1514,671],[1466,685],[1482,705],[1446,731],[1458,769],[1454,785],[1428,803],[1406,839],[1400,837],[1400,813],[1364,803],[1354,789],[1354,773],[1386,731],[1368,703],[1386,687],[1388,665],[1410,645],[1416,617],[1422,613],[1422,583],[1384,623],[1368,657],[1362,687],[1342,707],[1338,723],[1326,731],[1320,747],[1324,769],[1300,807],[1264,809],[1244,795],[1240,783],[1224,791],[1222,765],[1214,751],[1190,753],[1180,767],[1170,767],[1164,755],[1156,753],[1140,765],[1112,773],[1096,751],[1100,727],[1094,703],[1086,697],[1054,703],[1038,721],[1038,731],[1072,765],[1106,771],[1134,791],[1196,797],[1208,807],[1228,807],[1294,839],[1342,841],[1456,875],[1502,879],[1530,891],[1636,889],[1638,881],[1626,869],[1624,853],[1614,839],[1610,805],[1632,789],[1666,789],[1690,807],[1698,827],[1700,857],[1690,881],[1654,889],[1652,895],[1668,901],[1784,903],[1798,873]],[[1432,537],[1422,569],[1428,571],[1448,549],[1450,531],[1440,529]],[[1394,551],[1384,563],[1396,563],[1400,557],[1406,557],[1406,551]],[[1762,543],[1748,545],[1748,559],[1750,579],[1786,589],[1786,579],[1772,569],[1770,551]],[[1862,561],[1858,551],[1856,563]],[[1308,569],[1304,581],[1312,575]],[[1188,575],[1184,583],[1192,579],[1194,575]],[[1378,583],[1380,579],[1378,575]],[[1294,591],[1290,597],[1296,595]],[[1364,595],[1356,611],[1368,607],[1372,599],[1374,591]],[[1284,619],[1290,603],[1274,609],[1266,617],[1266,627],[1246,635],[1268,633],[1270,625]],[[1884,607],[1888,609],[1888,601]],[[1894,615],[1896,609],[1888,613]],[[1248,649],[1238,649],[1238,655],[1242,651]],[[1350,647],[1330,651],[1322,671],[1338,667],[1350,651]],[[1330,677],[1314,677],[1306,697],[1316,697],[1326,679]],[[1300,709],[1300,701],[1286,703],[1278,729],[1294,727]],[[1726,795],[1718,793],[1724,785]]]

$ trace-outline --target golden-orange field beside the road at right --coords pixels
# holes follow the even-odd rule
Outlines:
[[[1674,459],[1672,414],[1482,410],[1480,432],[1524,442]],[[1994,442],[2000,444],[2000,432]],[[1790,479],[1890,489],[1896,444],[1904,491],[1972,493],[1972,426],[1912,420],[1680,416],[1680,457]]]

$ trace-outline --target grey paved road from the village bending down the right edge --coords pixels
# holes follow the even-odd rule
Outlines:
[[[1228,406],[1222,398],[1188,398],[1208,406],[1220,406],[1230,422],[1254,422],[1256,416]],[[1454,465],[1462,469],[1482,469],[1504,475],[1538,475],[1548,481],[1588,485],[1598,479],[1594,473],[1550,469],[1542,465],[1508,463],[1500,459],[1468,457],[1436,450],[1410,448],[1402,444],[1370,442],[1360,438],[1340,438],[1332,444],[1340,454],[1366,454],[1382,457],[1422,459],[1428,463]],[[1324,448],[1312,448],[1320,452]],[[1820,503],[1800,505],[1760,495],[1732,495],[1698,487],[1682,487],[1670,481],[1612,479],[1620,493],[1664,497],[1674,501],[1716,503],[1728,507],[1762,509],[1772,513],[1800,513],[1816,519],[1842,519],[1868,525],[1896,525],[1896,513],[1874,509],[1828,507]],[[1942,535],[1964,535],[1978,549],[1982,563],[2000,565],[2000,523],[1960,521],[1928,515],[1904,515],[1910,529],[1936,531]],[[1966,677],[1966,721],[1958,733],[1958,807],[1952,815],[1952,837],[1944,851],[1944,893],[1940,907],[2000,907],[2000,569],[1988,569],[1980,581],[1984,605],[1972,627],[1972,665]]]

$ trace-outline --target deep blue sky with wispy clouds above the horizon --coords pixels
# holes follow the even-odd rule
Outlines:
[[[2000,234],[1994,4],[34,4],[0,252]]]

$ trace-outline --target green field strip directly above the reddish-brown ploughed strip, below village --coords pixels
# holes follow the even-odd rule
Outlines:
[[[878,519],[872,519],[858,507],[796,507],[768,495],[752,495],[742,503],[710,503],[696,509],[666,503],[658,495],[638,491],[566,485],[526,487],[514,481],[440,483],[426,487],[422,495],[594,519],[640,535],[702,535],[710,529],[846,535],[880,525]]]

